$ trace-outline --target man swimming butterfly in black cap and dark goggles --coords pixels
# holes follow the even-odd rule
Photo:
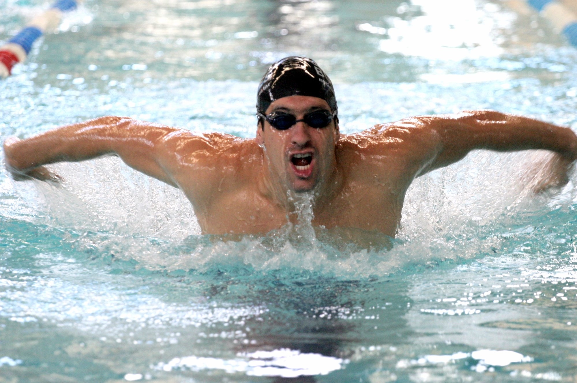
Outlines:
[[[313,226],[394,236],[413,179],[473,149],[554,152],[541,187],[566,181],[577,159],[571,129],[496,111],[430,115],[340,134],[334,89],[311,59],[272,65],[258,88],[256,138],[197,134],[101,117],[4,142],[15,179],[55,179],[43,166],[114,154],[178,187],[204,234],[264,234],[297,220],[312,196]]]

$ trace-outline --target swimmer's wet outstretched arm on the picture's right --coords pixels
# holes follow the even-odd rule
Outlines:
[[[473,149],[547,149],[557,153],[565,167],[577,159],[577,136],[571,129],[533,118],[479,110],[414,119],[421,134],[434,137],[430,158],[425,159],[417,176],[454,163]]]

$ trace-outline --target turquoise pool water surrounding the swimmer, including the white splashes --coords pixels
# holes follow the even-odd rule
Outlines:
[[[518,3],[87,1],[0,82],[0,140],[102,115],[252,137],[286,55],[341,129],[492,108],[576,127],[577,51]],[[46,9],[0,0],[0,40]],[[417,179],[387,246],[301,222],[200,235],[181,193],[115,158],[0,172],[0,382],[574,381],[577,175],[477,151]],[[387,238],[383,238],[384,242]]]

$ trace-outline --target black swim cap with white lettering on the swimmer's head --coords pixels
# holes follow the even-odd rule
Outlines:
[[[335,89],[319,65],[306,57],[286,57],[269,67],[258,85],[257,111],[264,114],[275,100],[287,96],[313,96],[336,111]]]

